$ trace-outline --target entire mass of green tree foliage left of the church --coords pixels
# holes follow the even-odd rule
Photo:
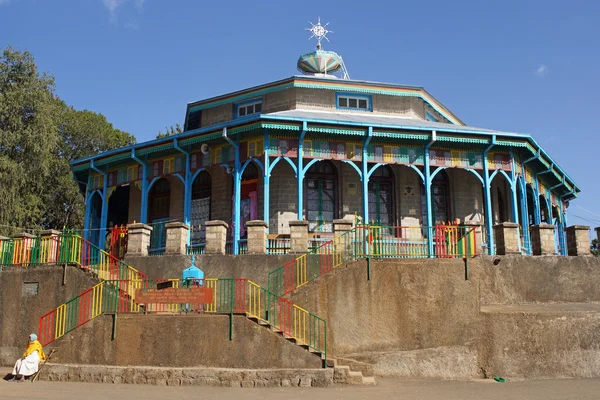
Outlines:
[[[0,56],[0,234],[24,228],[81,228],[83,196],[69,162],[135,143],[102,114],[78,111],[54,94],[33,56]]]

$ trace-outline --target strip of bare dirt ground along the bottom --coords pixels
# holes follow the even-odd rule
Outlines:
[[[112,385],[93,383],[0,381],[0,399],[527,399],[591,400],[600,398],[600,379],[564,379],[497,383],[378,379],[372,387],[216,388]]]

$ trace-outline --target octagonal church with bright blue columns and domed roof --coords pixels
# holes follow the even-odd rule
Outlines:
[[[420,86],[350,79],[320,41],[297,67],[301,75],[189,103],[183,133],[74,161],[85,238],[104,247],[113,227],[145,224],[148,254],[160,255],[175,222],[199,254],[207,222],[223,221],[227,252],[240,254],[247,222],[260,220],[266,251],[281,254],[290,225],[304,222],[314,245],[347,220],[421,244],[425,256],[432,227],[469,226],[480,251],[495,254],[504,224],[522,254],[542,226],[553,228],[553,252],[567,254],[566,209],[579,188],[533,137],[469,126]]]

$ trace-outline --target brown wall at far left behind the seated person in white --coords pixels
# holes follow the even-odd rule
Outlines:
[[[37,284],[37,295],[25,294],[24,283]],[[0,272],[0,365],[13,365],[21,357],[29,334],[38,333],[42,315],[97,283],[75,267],[4,268]]]

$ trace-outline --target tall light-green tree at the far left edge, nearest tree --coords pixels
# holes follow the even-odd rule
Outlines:
[[[60,136],[54,78],[11,47],[0,56],[0,231],[38,227]]]

